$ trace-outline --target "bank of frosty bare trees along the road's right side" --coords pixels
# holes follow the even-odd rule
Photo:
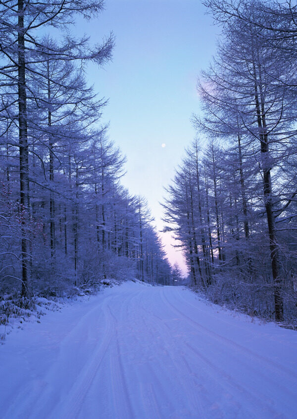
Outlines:
[[[167,188],[166,229],[184,250],[193,285],[213,301],[293,322],[297,6],[205,5],[221,36],[198,80],[197,137]]]

